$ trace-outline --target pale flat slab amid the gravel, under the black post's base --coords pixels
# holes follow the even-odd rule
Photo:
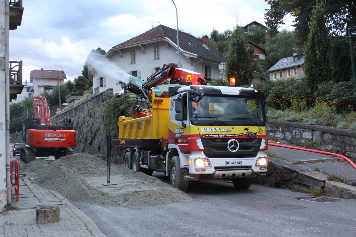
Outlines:
[[[125,176],[115,175],[110,176],[110,182],[117,183],[116,185],[104,186],[102,183],[107,181],[106,176],[102,177],[92,177],[85,179],[89,185],[99,189],[105,193],[115,194],[115,193],[126,193],[134,190],[144,190],[144,189],[159,189],[162,186],[154,186],[150,182],[141,181],[135,178],[128,178]]]

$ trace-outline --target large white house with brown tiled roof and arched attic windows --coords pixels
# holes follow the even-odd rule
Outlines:
[[[146,78],[162,68],[163,64],[176,63],[177,30],[159,25],[132,39],[112,47],[101,60],[110,60],[119,65],[127,74]],[[202,73],[205,77],[220,78],[218,65],[224,62],[224,54],[209,46],[208,36],[200,39],[179,31],[180,67]],[[90,68],[90,79],[93,80],[93,91],[121,89],[119,78],[112,78],[96,66]]]

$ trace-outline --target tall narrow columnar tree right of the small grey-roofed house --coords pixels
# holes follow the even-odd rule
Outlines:
[[[304,57],[305,82],[311,91],[315,91],[321,82],[330,80],[330,36],[324,15],[324,3],[316,4]]]

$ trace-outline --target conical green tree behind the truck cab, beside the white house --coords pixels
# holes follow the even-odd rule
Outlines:
[[[226,54],[227,77],[235,77],[236,85],[248,85],[252,80],[251,52],[242,37],[242,27],[235,26]]]

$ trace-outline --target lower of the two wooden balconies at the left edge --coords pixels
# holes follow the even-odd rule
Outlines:
[[[15,99],[21,94],[22,85],[22,61],[10,61],[10,99]]]

